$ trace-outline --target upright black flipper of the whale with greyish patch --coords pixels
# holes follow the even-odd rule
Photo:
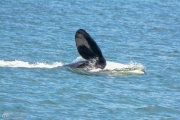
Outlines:
[[[106,60],[102,55],[100,48],[94,39],[83,29],[77,30],[75,34],[76,47],[79,54],[87,61],[95,60],[95,68],[104,69]],[[81,68],[86,67],[88,62],[80,65]]]

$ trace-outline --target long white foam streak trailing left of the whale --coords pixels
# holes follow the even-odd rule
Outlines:
[[[55,68],[62,66],[63,64],[61,62],[55,62],[52,64],[48,63],[34,63],[30,64],[29,62],[24,62],[24,61],[4,61],[0,60],[0,67],[21,67],[21,68]]]

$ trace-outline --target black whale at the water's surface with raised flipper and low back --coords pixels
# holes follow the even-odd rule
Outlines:
[[[75,42],[78,53],[85,60],[67,64],[70,68],[82,68],[85,70],[104,69],[106,59],[95,40],[84,30],[79,29],[75,34]]]

